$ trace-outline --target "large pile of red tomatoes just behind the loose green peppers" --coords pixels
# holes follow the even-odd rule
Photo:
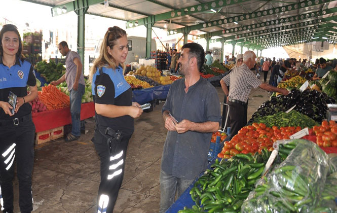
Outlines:
[[[239,153],[261,153],[261,150],[265,148],[272,151],[276,140],[289,139],[290,135],[299,130],[301,130],[299,126],[270,128],[264,123],[252,123],[252,125],[242,127],[232,140],[226,141],[217,157],[229,159]]]

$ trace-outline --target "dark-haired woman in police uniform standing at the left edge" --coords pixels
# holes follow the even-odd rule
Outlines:
[[[13,212],[14,159],[19,180],[19,205],[22,213],[33,210],[31,173],[34,162],[35,126],[28,102],[38,95],[34,69],[24,59],[18,29],[6,24],[0,31],[0,186],[3,212]],[[27,95],[27,85],[30,93]],[[9,94],[17,95],[15,111]]]

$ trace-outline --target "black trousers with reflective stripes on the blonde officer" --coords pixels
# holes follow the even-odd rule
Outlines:
[[[131,135],[123,135],[121,142],[117,145],[117,149],[110,154],[106,136],[95,129],[92,141],[101,161],[101,183],[98,189],[97,213],[111,213],[114,211],[118,192],[123,181],[126,150]]]

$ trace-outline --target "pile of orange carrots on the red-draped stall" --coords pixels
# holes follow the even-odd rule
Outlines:
[[[42,87],[42,92],[39,92],[39,98],[48,110],[62,109],[70,105],[69,96],[52,84]]]

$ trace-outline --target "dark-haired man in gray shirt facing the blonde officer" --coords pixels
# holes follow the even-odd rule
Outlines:
[[[206,169],[212,132],[219,128],[217,92],[199,75],[204,59],[201,45],[182,47],[178,63],[185,78],[173,82],[162,109],[168,132],[160,172],[160,213],[171,206],[176,192],[179,197]]]

